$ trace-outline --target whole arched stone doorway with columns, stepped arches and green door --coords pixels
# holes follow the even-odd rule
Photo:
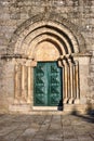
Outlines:
[[[62,101],[62,105],[79,104],[80,79],[79,60],[77,56],[79,56],[81,51],[80,46],[84,46],[81,35],[77,33],[72,24],[63,17],[57,18],[57,21],[54,20],[54,16],[52,20],[44,17],[36,22],[35,18],[31,18],[25,24],[26,27],[22,25],[22,28],[15,31],[18,37],[15,38],[15,48],[13,50],[15,54],[14,103],[29,104],[31,110],[57,110],[58,103],[55,103],[53,107],[51,107],[51,104],[58,98],[59,100],[57,102]],[[80,42],[79,39],[81,39]],[[40,64],[44,66],[41,67],[41,69],[38,68]],[[41,88],[41,82],[39,82],[39,86],[36,85],[38,84],[38,79],[41,80],[41,77],[42,82],[44,82],[45,79],[50,79],[50,81],[45,84],[51,82],[51,76],[49,76],[49,74],[51,74],[52,65],[56,67],[57,72],[62,72],[55,74],[55,76],[52,73],[54,81],[61,81],[59,85],[55,84],[59,87],[58,92],[61,91],[61,97],[57,97],[58,93],[56,91],[54,93],[51,92],[51,86],[48,87],[48,85],[45,85],[44,89],[43,87]],[[39,72],[37,72],[38,69]],[[41,70],[42,73],[40,73]],[[39,78],[36,77],[38,73]],[[59,77],[59,79],[57,79],[56,76],[57,78]],[[52,86],[53,88],[56,87],[53,84]],[[46,91],[46,89],[49,89],[48,93],[53,95],[52,103],[48,101],[50,95],[42,93]],[[38,93],[40,100],[43,97],[44,102],[48,104],[43,106],[42,104],[38,105],[35,100],[39,99]],[[55,95],[57,99],[55,99]]]

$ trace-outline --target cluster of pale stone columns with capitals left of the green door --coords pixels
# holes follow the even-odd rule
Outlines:
[[[31,103],[31,67],[37,66],[32,59],[13,59],[14,66],[14,103]]]

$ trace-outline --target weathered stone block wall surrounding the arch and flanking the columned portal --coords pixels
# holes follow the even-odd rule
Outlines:
[[[94,0],[0,0],[0,55],[5,54],[15,29],[39,13],[58,13],[73,23],[94,56]],[[94,59],[91,59],[89,92],[94,99]],[[0,60],[0,107],[8,108],[13,97],[13,64]],[[3,102],[2,102],[3,101]]]

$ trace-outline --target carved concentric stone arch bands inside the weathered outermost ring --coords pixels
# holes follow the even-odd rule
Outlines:
[[[15,44],[14,53],[19,53],[19,50],[22,49],[21,54],[27,55],[25,50],[28,50],[30,52],[29,49],[35,48],[35,46],[31,46],[31,43],[38,43],[38,37],[44,37],[46,39],[48,36],[55,38],[59,43],[64,44],[61,49],[68,50],[68,52],[65,51],[66,54],[79,52],[78,42],[66,27],[63,27],[61,24],[57,25],[51,21],[49,21],[49,23],[43,21],[36,23],[36,25],[31,25],[30,29],[28,29],[28,33],[24,31],[19,35],[19,39]],[[65,53],[63,52],[63,54]]]

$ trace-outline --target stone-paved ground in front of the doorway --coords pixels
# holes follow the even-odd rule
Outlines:
[[[0,141],[94,141],[94,117],[0,115]]]

